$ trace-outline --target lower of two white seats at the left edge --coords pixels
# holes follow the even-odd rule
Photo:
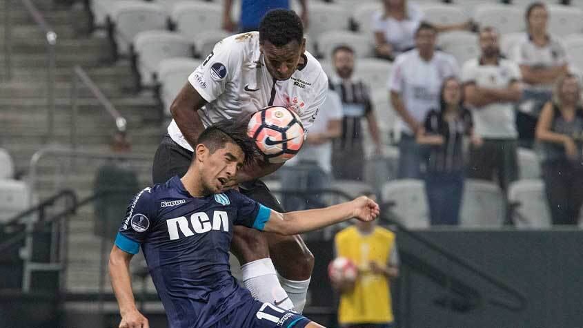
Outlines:
[[[26,182],[0,180],[0,222],[6,222],[30,206],[30,190]]]

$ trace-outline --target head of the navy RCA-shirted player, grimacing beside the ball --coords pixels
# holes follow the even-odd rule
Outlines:
[[[204,193],[221,191],[235,178],[239,168],[253,159],[254,147],[244,121],[219,122],[206,128],[199,136],[192,159]]]

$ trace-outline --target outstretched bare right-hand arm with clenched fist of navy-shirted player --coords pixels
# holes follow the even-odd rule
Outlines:
[[[350,202],[344,202],[324,209],[310,209],[289,213],[271,211],[264,231],[295,235],[330,226],[332,224],[357,218],[372,221],[379,215],[379,205],[368,197],[361,196]]]

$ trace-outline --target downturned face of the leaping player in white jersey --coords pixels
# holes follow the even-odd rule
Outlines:
[[[306,50],[306,39],[302,44],[297,41],[291,41],[285,46],[274,46],[270,41],[265,41],[260,46],[261,53],[264,55],[265,65],[271,76],[279,81],[289,79],[299,64]]]

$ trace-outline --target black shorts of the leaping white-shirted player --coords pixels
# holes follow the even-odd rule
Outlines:
[[[188,171],[192,155],[194,155],[192,151],[182,148],[170,138],[170,135],[165,135],[154,156],[152,182],[161,184],[175,175],[182,177]],[[284,213],[284,208],[261,180],[244,182],[239,187],[243,195],[279,213]]]

